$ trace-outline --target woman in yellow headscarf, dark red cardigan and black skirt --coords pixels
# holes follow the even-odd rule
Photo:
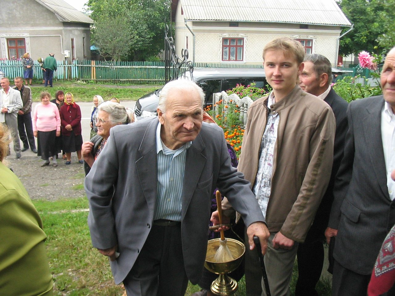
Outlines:
[[[84,163],[81,156],[81,109],[74,101],[71,92],[67,92],[64,105],[60,108],[60,126],[62,129],[63,151],[66,152],[66,165],[71,163],[71,152],[77,152],[78,162]]]

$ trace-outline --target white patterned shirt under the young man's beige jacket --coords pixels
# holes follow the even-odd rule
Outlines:
[[[267,102],[267,122],[260,146],[258,172],[256,174],[254,188],[252,189],[262,210],[263,217],[266,217],[266,209],[271,192],[274,146],[277,139],[278,122],[280,121],[278,113],[272,114],[270,112],[270,107],[274,102],[275,98],[272,92]]]

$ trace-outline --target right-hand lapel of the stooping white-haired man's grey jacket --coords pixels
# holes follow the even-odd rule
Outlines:
[[[205,145],[201,139],[200,134],[192,142],[186,152],[184,183],[182,186],[182,206],[181,206],[181,219],[184,219],[186,210],[192,196],[195,192],[196,186],[199,183],[201,172],[206,163],[206,157],[202,154]]]

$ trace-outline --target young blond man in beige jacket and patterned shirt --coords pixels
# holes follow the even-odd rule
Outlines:
[[[271,295],[276,296],[290,293],[297,245],[312,224],[333,162],[335,116],[327,103],[299,87],[304,56],[303,46],[286,37],[263,49],[266,79],[273,91],[248,109],[237,168],[251,182],[266,217],[270,237],[265,265]],[[229,206],[225,199],[228,216]],[[247,294],[259,295],[253,289],[259,286],[256,279],[261,274],[259,269],[251,270],[250,255],[246,256]]]

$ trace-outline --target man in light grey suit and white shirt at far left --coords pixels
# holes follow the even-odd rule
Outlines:
[[[21,143],[18,135],[18,111],[22,108],[21,93],[9,86],[9,79],[0,80],[0,123],[6,124],[11,131],[14,151],[17,158],[21,157]]]

